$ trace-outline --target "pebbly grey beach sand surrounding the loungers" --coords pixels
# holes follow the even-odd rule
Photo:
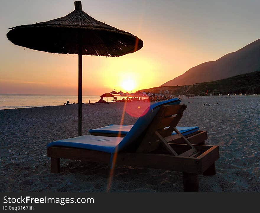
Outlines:
[[[259,192],[260,97],[207,97],[182,103],[188,108],[178,126],[199,126],[208,131],[206,144],[220,146],[217,174],[199,175],[200,191]],[[129,106],[123,123],[134,124],[146,105]],[[123,107],[124,103],[83,105],[82,134],[119,124]],[[1,192],[106,191],[108,170],[103,164],[62,159],[61,173],[50,173],[46,145],[77,136],[77,105],[0,110],[0,119]],[[120,166],[110,191],[182,192],[182,174]]]

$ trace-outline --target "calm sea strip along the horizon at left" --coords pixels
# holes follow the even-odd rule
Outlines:
[[[106,99],[106,98],[105,98]],[[78,95],[25,95],[0,94],[0,110],[42,106],[57,106],[67,102],[78,103]],[[95,103],[100,100],[98,95],[82,95],[82,103]],[[108,101],[111,101],[108,98]]]

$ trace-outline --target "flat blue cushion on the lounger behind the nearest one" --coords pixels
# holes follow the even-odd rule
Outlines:
[[[133,125],[111,124],[97,129],[90,129],[89,133],[119,134],[120,132],[120,134],[126,135],[132,127]],[[198,131],[199,127],[198,126],[177,126],[177,129],[181,132],[181,134],[188,135]],[[176,134],[176,132],[173,132],[173,135],[174,134]]]

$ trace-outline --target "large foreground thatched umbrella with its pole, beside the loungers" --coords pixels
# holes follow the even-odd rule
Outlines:
[[[82,120],[82,55],[123,56],[143,47],[129,32],[100,22],[82,11],[81,1],[68,15],[47,22],[12,27],[7,38],[14,44],[50,53],[79,55],[78,135]]]

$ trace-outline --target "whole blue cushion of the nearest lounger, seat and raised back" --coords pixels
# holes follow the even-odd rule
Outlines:
[[[160,106],[179,103],[181,103],[181,100],[179,100],[178,98],[173,98],[150,105],[137,119],[135,124],[132,126],[132,128],[124,138],[83,135],[75,138],[51,142],[47,145],[47,147],[69,146],[92,149],[108,153],[114,153],[123,150],[135,150],[140,143],[140,141],[137,139],[152,122],[152,119],[155,117],[156,113],[160,109]]]

